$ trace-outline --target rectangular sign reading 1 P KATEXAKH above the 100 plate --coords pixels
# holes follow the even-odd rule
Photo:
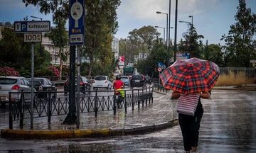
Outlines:
[[[50,31],[50,21],[16,21],[14,31],[16,33],[47,32]]]

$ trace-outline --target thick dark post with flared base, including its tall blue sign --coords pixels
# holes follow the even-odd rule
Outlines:
[[[67,117],[65,118],[63,124],[75,124],[79,127],[79,103],[75,105],[75,45],[85,45],[85,0],[70,0],[69,1],[69,26],[68,26],[68,35],[69,35],[69,45],[70,45],[70,109]],[[79,63],[80,64],[80,63]],[[80,69],[80,68],[79,68]],[[79,72],[80,76],[80,72]],[[74,77],[74,78],[72,78]],[[79,85],[80,79],[78,78],[77,84]],[[78,87],[78,86],[77,86]],[[78,88],[78,94],[79,93]],[[78,95],[77,94],[77,95]],[[77,96],[78,98],[78,96]],[[78,100],[77,100],[78,101]],[[77,108],[75,109],[75,106]],[[77,112],[77,114],[75,114]]]

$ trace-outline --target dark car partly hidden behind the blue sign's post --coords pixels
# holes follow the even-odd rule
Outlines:
[[[77,80],[77,77],[75,77],[75,86],[77,85]],[[69,79],[67,79],[64,83],[64,94],[68,94],[69,91],[68,81]],[[82,92],[82,94],[85,94],[87,91],[90,91],[91,86],[92,85],[86,77],[80,77],[80,92]],[[75,87],[75,90],[76,89],[77,88]]]

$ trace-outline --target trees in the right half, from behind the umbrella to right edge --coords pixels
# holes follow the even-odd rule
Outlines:
[[[208,40],[203,44],[203,35],[197,33],[192,24],[188,24],[188,30],[183,33],[183,38],[178,42],[178,52],[189,53],[190,57],[198,57],[210,60],[219,67],[250,67],[250,60],[256,59],[256,15],[250,8],[246,8],[245,0],[239,0],[238,12],[235,14],[235,24],[230,26],[228,35],[223,35],[220,40],[225,41],[225,45],[208,44]],[[143,31],[143,34],[139,33]],[[147,37],[145,36],[147,35]],[[157,77],[157,67],[159,62],[164,62],[167,66],[171,64],[170,54],[166,50],[164,40],[158,38],[159,33],[151,26],[144,26],[134,29],[129,33],[127,39],[120,40],[119,50],[122,55],[126,55],[126,60],[132,62],[133,56],[138,52],[150,52],[149,57],[137,63],[137,69],[142,74]],[[144,38],[152,38],[142,45]],[[147,42],[147,41],[146,41]],[[172,44],[172,42],[170,42]],[[171,55],[174,55],[174,46],[171,46]],[[151,71],[149,69],[154,69]]]

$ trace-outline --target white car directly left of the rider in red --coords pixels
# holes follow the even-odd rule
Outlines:
[[[92,89],[111,89],[112,88],[112,82],[110,81],[109,77],[107,76],[96,76],[95,79],[92,81]]]

